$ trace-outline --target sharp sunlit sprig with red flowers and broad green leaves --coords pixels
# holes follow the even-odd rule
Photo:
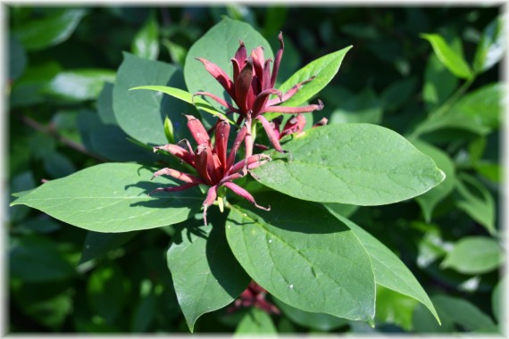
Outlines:
[[[443,55],[438,36],[423,37]],[[420,304],[439,323],[405,263],[348,211],[415,198],[430,218],[451,171],[418,137],[445,113],[407,137],[371,123],[318,120],[329,103],[315,96],[340,76],[352,46],[279,79],[281,33],[278,42],[274,55],[250,25],[224,18],[191,46],[183,72],[124,53],[102,95],[143,155],[48,180],[12,205],[90,231],[86,246],[96,252],[134,231],[165,229],[172,286],[191,332],[222,308],[230,316],[256,308],[263,321],[288,313],[374,326],[388,295]],[[484,64],[455,70],[473,81]]]

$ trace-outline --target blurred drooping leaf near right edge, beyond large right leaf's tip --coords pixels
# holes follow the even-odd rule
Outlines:
[[[459,175],[458,179],[456,190],[460,198],[455,202],[458,208],[479,222],[490,234],[495,234],[496,206],[488,188],[466,173]]]

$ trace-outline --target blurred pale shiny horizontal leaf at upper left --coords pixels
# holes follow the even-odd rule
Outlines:
[[[42,91],[67,101],[96,99],[101,93],[104,82],[113,82],[113,70],[65,70],[52,79]]]

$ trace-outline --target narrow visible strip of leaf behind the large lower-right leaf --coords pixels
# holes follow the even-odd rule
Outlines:
[[[362,227],[337,213],[332,212],[332,214],[355,233],[355,236],[359,238],[366,252],[370,255],[376,284],[421,302],[430,310],[439,323],[437,311],[433,307],[433,303],[430,302],[428,294],[396,254],[391,252],[384,244],[381,244],[374,236],[364,231]]]

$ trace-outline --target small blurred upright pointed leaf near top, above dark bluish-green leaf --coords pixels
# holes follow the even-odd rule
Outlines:
[[[132,53],[140,58],[156,60],[159,54],[159,26],[151,15],[145,25],[138,30],[131,45]]]

